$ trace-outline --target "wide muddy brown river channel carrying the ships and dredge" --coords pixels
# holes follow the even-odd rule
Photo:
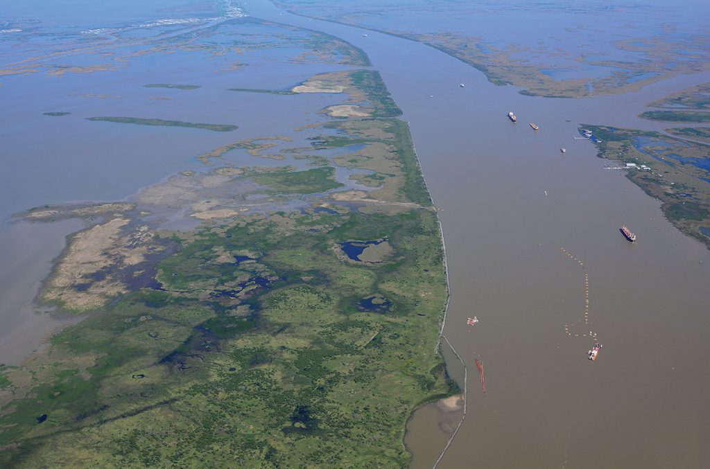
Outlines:
[[[522,96],[425,45],[372,31],[365,38],[266,1],[247,8],[363,48],[410,122],[441,209],[452,291],[444,332],[469,368],[468,414],[439,467],[704,467],[709,251],[621,172],[604,170],[594,145],[572,136],[578,123],[662,128],[635,116],[710,75],[621,96]],[[636,243],[621,236],[622,224]],[[584,272],[561,248],[589,276],[587,326]],[[466,326],[474,314],[479,324]],[[604,345],[594,363],[586,359],[589,330]],[[485,363],[488,397],[474,357]],[[441,419],[427,407],[410,421],[413,467],[439,456]]]

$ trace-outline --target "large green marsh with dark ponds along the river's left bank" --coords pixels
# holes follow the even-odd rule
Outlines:
[[[400,111],[378,74],[352,79],[382,117],[331,121],[337,135],[312,147],[364,145],[342,158],[376,172],[383,189],[369,197],[397,210],[321,199],[334,210],[161,231],[175,248],[155,259],[152,287],[129,288],[1,370],[0,465],[408,465],[410,414],[457,392],[435,351],[442,242]],[[323,197],[342,184],[320,158],[308,170],[240,169],[234,183]],[[339,253],[344,241],[383,238],[381,262]],[[367,299],[387,307],[368,311]]]

